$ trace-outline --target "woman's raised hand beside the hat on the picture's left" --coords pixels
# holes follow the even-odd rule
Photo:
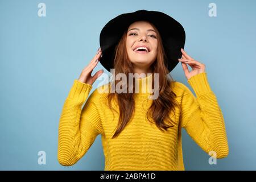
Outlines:
[[[101,58],[101,54],[101,48],[98,48],[96,55],[93,57],[90,63],[82,70],[78,79],[80,82],[92,85],[93,82],[101,76],[101,74],[103,73],[103,69],[97,71],[93,76],[91,76],[93,69],[96,67],[96,65],[98,64],[98,60],[100,60]]]

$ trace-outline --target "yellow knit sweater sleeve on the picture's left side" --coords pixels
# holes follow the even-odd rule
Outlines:
[[[101,121],[92,94],[92,85],[73,82],[59,121],[57,159],[63,166],[72,166],[89,150],[98,134]],[[85,102],[86,98],[88,100]],[[81,109],[82,104],[85,105]]]

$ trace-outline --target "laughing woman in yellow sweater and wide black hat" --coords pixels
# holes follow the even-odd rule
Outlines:
[[[225,158],[229,148],[221,109],[205,65],[183,50],[184,42],[182,26],[158,11],[139,10],[110,20],[101,31],[102,50],[98,49],[74,81],[65,100],[59,124],[59,163],[75,164],[101,134],[105,170],[184,170],[182,128],[207,154]],[[181,55],[183,59],[178,59]],[[138,86],[138,93],[96,89],[89,96],[93,82],[103,73],[100,70],[91,76],[98,61],[108,71],[114,68],[126,76],[152,74],[135,77],[134,84],[122,87],[134,91]],[[197,97],[167,77],[179,61]],[[152,79],[156,74],[158,80]],[[154,100],[148,99],[152,80],[153,85],[159,84]],[[117,86],[118,81],[113,84]],[[105,86],[110,88],[110,82],[101,88]],[[146,93],[142,92],[145,87]]]

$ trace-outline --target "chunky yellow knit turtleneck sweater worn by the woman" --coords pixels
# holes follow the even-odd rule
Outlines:
[[[139,78],[139,86],[149,77]],[[109,109],[105,97],[107,93],[95,89],[89,96],[92,85],[75,80],[64,102],[59,122],[59,163],[63,166],[75,164],[100,134],[105,155],[104,170],[184,170],[181,128],[207,154],[215,151],[218,159],[225,158],[229,147],[224,118],[210,89],[207,73],[191,77],[188,83],[196,97],[181,82],[175,81],[172,88],[181,104],[182,115],[177,109],[176,118],[170,117],[179,125],[163,132],[150,124],[146,112],[152,100],[148,100],[148,93],[140,90],[135,93],[134,117],[118,137],[112,139],[118,114]],[[119,111],[118,107],[113,107]]]

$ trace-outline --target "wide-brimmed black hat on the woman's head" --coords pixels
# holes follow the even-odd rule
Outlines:
[[[167,55],[167,68],[171,72],[181,58],[180,48],[184,48],[185,31],[183,26],[171,16],[159,11],[138,10],[116,16],[102,28],[100,33],[100,47],[102,57],[100,63],[110,72],[114,68],[114,49],[121,39],[123,32],[131,23],[146,20],[158,29]]]

